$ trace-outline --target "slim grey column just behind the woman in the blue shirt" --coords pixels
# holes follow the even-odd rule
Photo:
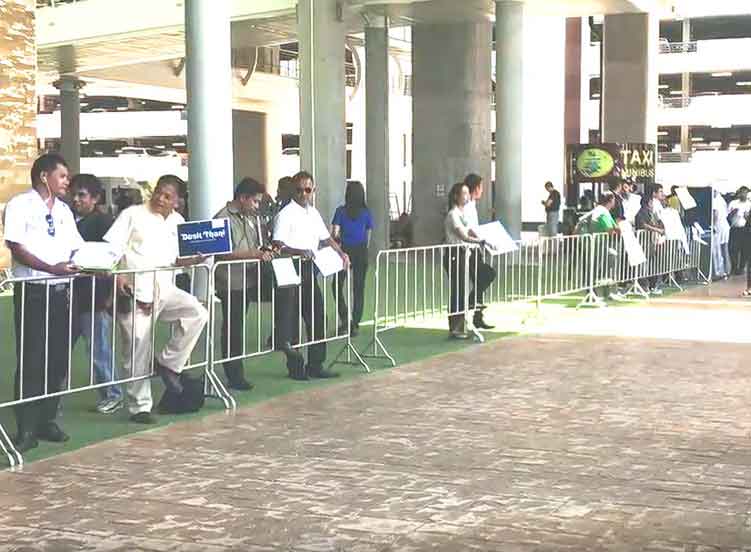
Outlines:
[[[365,28],[365,173],[374,225],[373,257],[389,245],[388,47],[388,23],[383,17],[373,17]]]

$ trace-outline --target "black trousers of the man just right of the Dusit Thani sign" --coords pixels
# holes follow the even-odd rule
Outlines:
[[[243,341],[246,329],[243,325],[248,312],[248,305],[258,299],[256,289],[245,290],[217,289],[216,294],[222,303],[222,356],[235,357],[243,354]],[[227,336],[229,335],[229,339]],[[229,347],[228,347],[229,345]],[[224,363],[224,374],[230,382],[244,378],[242,359],[228,360]]]

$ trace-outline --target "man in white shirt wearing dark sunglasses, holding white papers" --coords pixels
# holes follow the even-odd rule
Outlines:
[[[277,288],[276,306],[279,309],[275,317],[277,350],[287,355],[287,368],[292,379],[307,380],[311,378],[332,378],[339,374],[323,368],[326,360],[326,343],[316,343],[308,348],[308,365],[304,366],[300,353],[292,349],[295,326],[298,317],[305,322],[308,339],[323,339],[323,295],[313,266],[316,251],[323,246],[333,247],[344,261],[344,268],[349,267],[349,258],[329,234],[320,213],[313,206],[315,185],[313,177],[307,172],[299,172],[292,177],[293,195],[286,207],[274,221],[273,241],[282,255],[302,257],[299,263],[300,279],[297,287]],[[298,293],[302,294],[302,312],[298,313]]]

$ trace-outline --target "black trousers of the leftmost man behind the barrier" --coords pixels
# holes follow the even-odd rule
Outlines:
[[[70,288],[67,284],[15,284],[13,311],[16,327],[15,398],[39,397],[61,391],[68,377],[70,351]],[[49,289],[49,295],[47,294]],[[49,321],[46,312],[49,310]],[[23,312],[23,342],[21,340]],[[21,356],[23,354],[23,365]],[[45,364],[47,374],[45,376]],[[36,432],[54,421],[60,397],[16,406],[19,433]]]

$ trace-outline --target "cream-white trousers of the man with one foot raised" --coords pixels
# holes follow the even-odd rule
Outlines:
[[[172,324],[171,337],[156,355],[156,360],[169,370],[178,374],[182,372],[208,319],[209,313],[198,299],[173,285],[160,286],[151,314],[145,314],[134,305],[133,312],[118,315],[123,339],[123,377],[151,374],[151,328],[156,320]],[[150,379],[129,383],[125,391],[131,414],[151,411]]]

